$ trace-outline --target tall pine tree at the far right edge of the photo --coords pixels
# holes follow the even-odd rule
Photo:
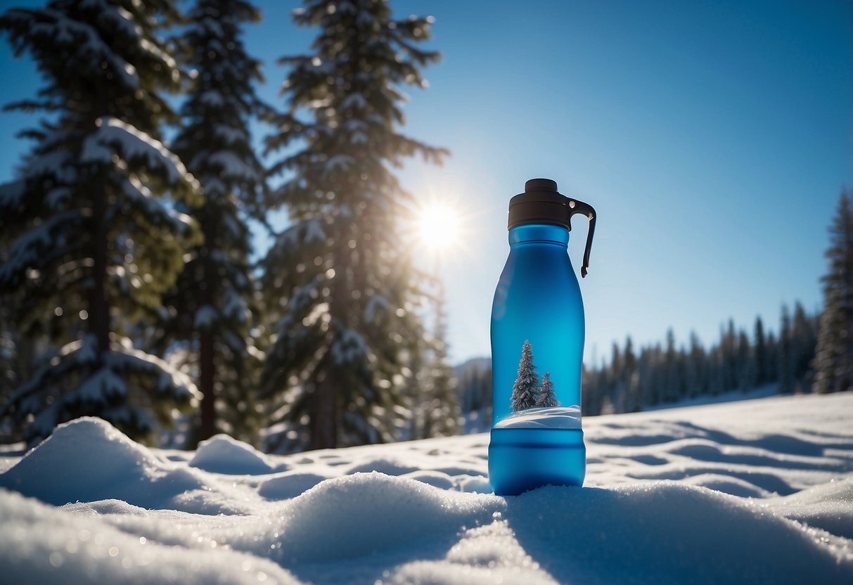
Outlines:
[[[815,350],[815,392],[853,388],[853,209],[842,190],[827,249],[823,313]]]

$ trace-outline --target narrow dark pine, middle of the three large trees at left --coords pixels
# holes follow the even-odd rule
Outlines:
[[[216,432],[251,442],[258,417],[247,366],[258,352],[249,335],[254,285],[247,216],[260,217],[265,171],[249,122],[268,108],[255,95],[260,63],[247,55],[241,36],[260,13],[245,0],[198,0],[188,17],[180,55],[192,71],[174,150],[204,190],[200,205],[182,210],[197,220],[204,241],[189,250],[165,297],[161,339],[183,342],[183,367],[198,372],[202,399],[191,442]]]

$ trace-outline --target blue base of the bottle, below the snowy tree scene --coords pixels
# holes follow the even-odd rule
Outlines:
[[[583,485],[586,447],[580,429],[492,429],[489,481],[496,495],[543,485]]]

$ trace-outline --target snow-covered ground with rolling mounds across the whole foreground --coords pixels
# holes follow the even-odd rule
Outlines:
[[[853,582],[853,393],[583,426],[585,487],[502,498],[487,434],[270,456],[74,421],[0,457],[0,582]]]

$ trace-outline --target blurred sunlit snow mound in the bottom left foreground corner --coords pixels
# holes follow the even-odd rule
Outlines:
[[[269,579],[299,584],[268,559],[209,542],[168,546],[107,524],[95,513],[48,507],[5,489],[0,489],[0,518],[2,582],[224,585]]]

